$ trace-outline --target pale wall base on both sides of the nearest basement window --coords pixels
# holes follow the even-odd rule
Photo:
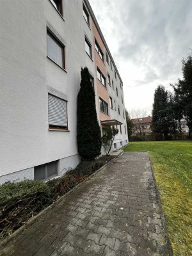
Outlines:
[[[58,163],[58,176],[63,175],[68,170],[76,168],[77,164],[81,161],[79,155],[65,157],[59,160]],[[5,182],[19,182],[22,180],[33,180],[34,179],[34,167],[20,170],[19,172],[9,173],[7,175],[0,176],[0,185]]]

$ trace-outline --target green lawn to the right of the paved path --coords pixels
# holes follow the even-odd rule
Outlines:
[[[173,253],[192,255],[192,141],[131,142],[125,152],[150,152]]]

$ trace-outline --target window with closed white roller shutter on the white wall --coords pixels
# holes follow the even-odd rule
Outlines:
[[[48,118],[50,129],[67,129],[67,101],[48,94]]]

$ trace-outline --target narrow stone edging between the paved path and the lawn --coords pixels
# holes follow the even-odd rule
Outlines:
[[[172,244],[170,243],[170,237],[168,236],[168,228],[167,228],[167,225],[166,225],[166,218],[164,216],[163,207],[162,207],[162,204],[161,204],[161,197],[160,197],[160,194],[159,194],[159,189],[157,188],[156,177],[154,175],[154,166],[152,164],[152,159],[150,157],[150,152],[148,152],[148,156],[149,156],[152,176],[154,178],[154,185],[155,185],[155,188],[156,188],[156,195],[157,195],[157,200],[158,200],[158,204],[159,204],[159,211],[161,212],[161,216],[163,216],[162,222],[163,222],[163,226],[164,226],[164,234],[165,234],[166,244],[167,244],[167,248],[168,248],[168,255],[173,256],[173,248],[172,248]]]

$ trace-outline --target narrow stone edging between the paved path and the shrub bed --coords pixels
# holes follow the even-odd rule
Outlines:
[[[124,154],[124,153],[123,153]],[[118,156],[117,156],[118,157]],[[113,157],[113,159],[117,158],[117,157]],[[77,186],[75,186],[74,188],[72,188],[70,191],[68,191],[65,195],[60,196],[59,198],[56,199],[56,201],[54,201],[51,205],[47,206],[44,210],[40,211],[38,214],[36,214],[34,217],[32,217],[31,219],[29,219],[24,225],[22,225],[22,227],[18,228],[17,230],[15,230],[15,232],[13,232],[12,236],[6,237],[3,241],[0,242],[0,248],[1,246],[4,246],[6,243],[12,241],[12,239],[17,236],[17,234],[20,234],[20,232],[22,232],[25,228],[29,227],[31,224],[33,224],[33,222],[42,214],[44,214],[45,211],[51,209],[52,207],[54,207],[55,204],[58,204],[61,200],[63,200],[63,198],[67,197],[68,195],[70,195],[71,193],[73,193],[77,188],[79,188],[80,186],[82,186],[85,182],[87,182],[88,180],[92,179],[93,176],[95,176],[97,173],[99,173],[103,168],[105,168],[109,163],[112,163],[113,159],[111,159],[108,163],[104,164],[104,166],[100,167],[99,170],[97,170],[96,172],[92,173],[92,175],[90,175],[89,177],[87,177],[85,180],[83,180],[83,182],[77,184]],[[0,255],[1,256],[1,255]]]

